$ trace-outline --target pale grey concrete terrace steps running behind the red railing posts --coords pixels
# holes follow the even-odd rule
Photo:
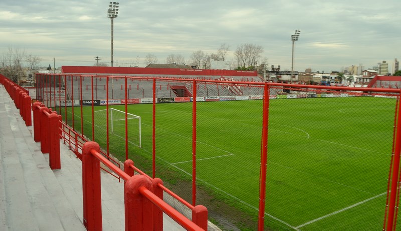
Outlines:
[[[82,163],[61,140],[61,169],[33,140],[18,109],[0,85],[0,230],[86,230]],[[103,230],[124,230],[123,182],[101,173]],[[164,215],[164,230],[184,230]]]

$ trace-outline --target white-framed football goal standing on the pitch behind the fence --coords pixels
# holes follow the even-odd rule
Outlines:
[[[95,111],[96,117],[104,121],[106,121],[106,113],[106,109]],[[125,113],[125,111],[120,111],[115,108],[109,108],[108,113],[109,132],[120,139],[125,139],[125,129],[128,129],[128,142],[135,146],[142,147],[141,117],[131,113]],[[125,126],[126,122],[127,126]],[[98,123],[98,121],[95,121],[95,123]],[[104,122],[104,128],[106,128],[106,126],[107,122]]]

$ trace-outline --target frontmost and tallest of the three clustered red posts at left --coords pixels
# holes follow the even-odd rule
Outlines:
[[[52,170],[60,169],[60,133],[59,115],[49,115],[49,166]]]

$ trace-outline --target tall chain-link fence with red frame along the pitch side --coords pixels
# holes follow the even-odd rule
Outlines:
[[[76,131],[205,205],[222,229],[395,226],[395,89],[224,77],[38,78],[37,98]]]

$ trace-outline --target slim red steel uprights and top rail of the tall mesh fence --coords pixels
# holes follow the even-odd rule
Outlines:
[[[45,75],[46,76],[46,75]],[[102,78],[106,78],[106,88],[109,88],[109,79],[110,76],[101,76]],[[64,78],[66,80],[66,75],[64,75]],[[82,75],[80,75],[80,86],[81,86],[81,100],[82,100]],[[93,101],[94,101],[94,96],[93,96],[93,76],[91,76],[91,85],[92,85],[92,131],[94,131],[94,118],[93,118]],[[118,78],[118,77],[116,77]],[[119,76],[121,78],[121,76]],[[127,78],[125,77],[125,109],[127,111]],[[134,77],[132,77],[134,78]],[[168,81],[171,80],[171,78],[157,78],[157,77],[143,77],[142,79],[145,80],[153,80],[153,127],[152,127],[152,165],[153,165],[153,171],[152,171],[152,176],[153,178],[156,177],[156,139],[155,139],[155,133],[156,133],[156,81],[157,80],[164,80]],[[44,79],[41,79],[44,81]],[[73,76],[71,75],[71,81],[73,81]],[[192,127],[193,127],[193,133],[192,133],[192,158],[193,158],[193,168],[192,168],[192,207],[196,204],[196,89],[197,89],[197,84],[199,83],[204,83],[204,84],[233,84],[232,81],[220,81],[220,80],[202,80],[202,79],[174,79],[174,81],[192,81],[193,82],[193,111],[192,111]],[[48,92],[48,82],[46,79],[46,92]],[[65,81],[66,82],[66,81]],[[364,92],[387,92],[387,93],[397,93],[398,97],[400,95],[400,90],[397,89],[376,89],[376,88],[355,88],[355,87],[327,87],[327,86],[306,86],[306,85],[296,85],[296,84],[281,84],[281,83],[262,83],[262,82],[241,82],[241,81],[236,81],[236,84],[239,85],[260,85],[261,87],[263,86],[264,88],[264,101],[263,101],[263,124],[262,124],[262,140],[261,140],[261,169],[260,169],[260,202],[259,202],[259,221],[258,221],[258,229],[263,230],[264,227],[264,208],[265,208],[265,196],[266,196],[266,163],[267,163],[267,136],[268,136],[268,114],[269,114],[269,89],[270,87],[286,87],[286,88],[300,88],[300,89],[305,89],[305,88],[313,88],[314,90],[316,89],[321,89],[321,90],[344,90],[344,91],[361,91],[363,90]],[[40,84],[42,87],[44,87],[44,83]],[[74,93],[73,93],[73,83],[71,82],[71,96],[72,100],[74,100]],[[66,86],[67,87],[67,86]],[[38,93],[39,94],[39,93]],[[46,100],[48,100],[49,94],[46,94]],[[44,97],[44,94],[43,94]],[[51,94],[50,94],[51,97]],[[106,98],[107,98],[107,103],[106,103],[106,109],[108,111],[109,107],[109,91],[106,91]],[[65,100],[67,100],[67,89],[65,93]],[[49,102],[49,101],[47,101]],[[55,103],[56,104],[56,103]],[[65,104],[65,107],[67,104]],[[394,142],[393,142],[393,156],[391,157],[391,166],[389,170],[389,176],[390,180],[388,183],[388,193],[387,193],[387,203],[388,208],[385,209],[385,218],[384,218],[384,228],[387,227],[386,230],[393,230],[395,229],[395,224],[396,224],[396,216],[398,212],[398,203],[399,203],[399,184],[398,180],[401,179],[401,172],[400,172],[400,152],[401,152],[401,125],[398,123],[398,121],[401,119],[401,115],[398,112],[399,108],[401,107],[401,102],[397,101],[396,105],[396,115],[395,115],[395,122],[394,122]],[[72,110],[74,110],[74,103],[72,104]],[[67,111],[67,110],[65,110]],[[74,112],[73,112],[74,113]],[[126,115],[127,116],[127,115]],[[67,117],[67,113],[66,113]],[[72,116],[72,123],[74,127],[74,116]],[[107,113],[107,121],[108,121],[108,113]],[[81,105],[81,119],[82,119],[82,105]],[[127,118],[126,118],[127,120]],[[82,120],[81,120],[82,124]],[[81,126],[81,132],[82,126]],[[108,126],[107,126],[107,143],[109,141],[108,137]],[[94,139],[94,132],[92,133],[92,138]],[[127,122],[126,122],[126,138],[127,138]],[[127,149],[127,139],[126,139],[126,159],[128,157],[128,149]],[[109,147],[107,146],[107,156],[109,155]],[[388,217],[388,219],[387,219]]]

